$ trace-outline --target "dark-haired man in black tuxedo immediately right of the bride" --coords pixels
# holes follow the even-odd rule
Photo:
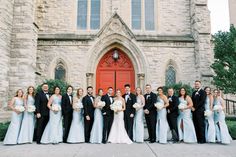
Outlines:
[[[133,125],[134,125],[134,114],[135,108],[133,105],[136,103],[136,96],[130,92],[130,85],[126,84],[125,94],[123,98],[125,99],[126,109],[124,111],[125,129],[129,138],[133,140]]]

